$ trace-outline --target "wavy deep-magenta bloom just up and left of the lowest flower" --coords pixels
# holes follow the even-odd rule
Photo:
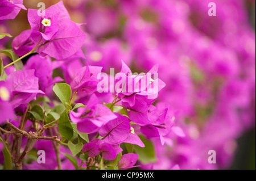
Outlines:
[[[117,154],[122,151],[122,149],[117,145],[111,145],[98,138],[85,144],[82,148],[83,152],[86,152],[89,157],[95,157],[102,153],[102,157],[106,160],[112,160],[117,157]]]

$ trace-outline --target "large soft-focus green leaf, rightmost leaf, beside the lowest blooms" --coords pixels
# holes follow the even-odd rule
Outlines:
[[[141,141],[145,145],[144,148],[138,145],[134,145],[134,151],[139,155],[139,158],[138,158],[139,161],[141,161],[143,164],[146,164],[149,162],[156,162],[155,149],[152,142],[147,140],[143,136],[139,136],[139,138],[141,138]]]

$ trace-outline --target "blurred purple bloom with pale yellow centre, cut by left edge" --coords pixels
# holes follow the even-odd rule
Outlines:
[[[7,119],[13,119],[14,111],[9,100],[11,99],[10,86],[6,82],[0,81],[0,125]]]

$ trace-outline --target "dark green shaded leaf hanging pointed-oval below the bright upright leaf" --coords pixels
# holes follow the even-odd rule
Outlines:
[[[59,119],[58,123],[58,129],[60,134],[67,138],[68,140],[71,140],[73,137],[73,127],[71,125],[71,122],[69,120],[68,114],[64,111]]]

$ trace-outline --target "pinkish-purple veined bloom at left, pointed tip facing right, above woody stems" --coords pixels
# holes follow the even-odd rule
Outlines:
[[[39,90],[38,78],[35,77],[35,70],[17,70],[11,73],[6,82],[10,84],[10,102],[13,108],[20,104],[27,104],[36,98],[36,94],[44,94]]]

